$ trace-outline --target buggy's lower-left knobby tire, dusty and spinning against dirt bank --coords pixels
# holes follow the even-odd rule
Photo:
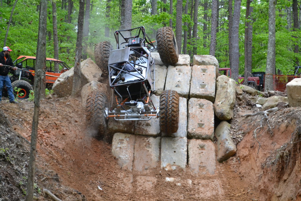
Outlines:
[[[107,120],[105,118],[106,96],[102,92],[92,92],[86,101],[86,119],[89,124],[88,133],[97,139],[106,135]]]

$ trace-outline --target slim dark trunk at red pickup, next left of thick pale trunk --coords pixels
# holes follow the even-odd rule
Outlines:
[[[253,7],[250,6],[253,0],[247,0],[246,6],[246,22],[245,22],[245,80],[244,84],[247,84],[248,77],[252,74],[252,33],[253,33],[253,19],[252,12]]]

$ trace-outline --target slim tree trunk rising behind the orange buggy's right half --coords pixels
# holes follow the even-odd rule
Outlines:
[[[58,59],[58,23],[56,21],[56,1],[52,0],[53,52],[54,59]],[[58,62],[54,63],[54,71],[60,72]]]

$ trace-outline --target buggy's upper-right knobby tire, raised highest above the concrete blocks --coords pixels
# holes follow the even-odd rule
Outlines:
[[[177,41],[171,27],[162,27],[156,34],[157,49],[165,65],[174,65],[178,62],[179,53]]]

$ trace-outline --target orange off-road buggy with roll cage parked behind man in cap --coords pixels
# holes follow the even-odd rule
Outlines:
[[[30,90],[33,90],[33,81],[35,76],[35,56],[19,56],[14,61],[14,66],[18,69],[14,71],[14,74],[10,77],[11,86],[13,88],[20,88],[15,95],[19,99],[26,99],[29,97]],[[55,72],[55,64],[58,64],[60,71]],[[46,88],[52,87],[56,79],[70,67],[63,61],[58,59],[46,58]],[[47,76],[48,75],[48,76]]]

